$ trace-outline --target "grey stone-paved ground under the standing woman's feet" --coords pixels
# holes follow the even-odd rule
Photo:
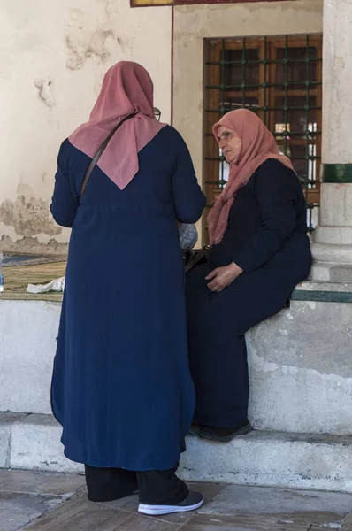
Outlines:
[[[199,512],[149,518],[137,496],[88,502],[81,475],[0,470],[0,531],[352,531],[352,495],[214,483]],[[349,523],[348,523],[349,521]]]

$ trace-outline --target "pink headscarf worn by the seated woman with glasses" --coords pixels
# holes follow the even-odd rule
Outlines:
[[[227,127],[241,138],[240,157],[235,164],[230,164],[229,179],[223,192],[208,215],[210,243],[221,242],[228,223],[228,216],[233,206],[234,197],[239,189],[248,183],[256,169],[268,158],[276,158],[291,170],[291,161],[280,155],[274,136],[254,112],[247,109],[227,112],[212,128],[218,142],[218,128]],[[295,170],[294,170],[295,171]]]

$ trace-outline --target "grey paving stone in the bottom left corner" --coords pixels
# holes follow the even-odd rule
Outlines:
[[[0,531],[16,531],[60,502],[62,498],[52,496],[0,493]]]

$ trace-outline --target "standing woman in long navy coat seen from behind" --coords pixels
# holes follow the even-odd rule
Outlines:
[[[91,159],[121,119],[80,190]],[[51,403],[88,496],[140,491],[140,511],[202,503],[174,474],[195,408],[177,220],[205,198],[185,142],[153,114],[141,65],[106,74],[88,123],[62,144],[51,212],[72,227]]]

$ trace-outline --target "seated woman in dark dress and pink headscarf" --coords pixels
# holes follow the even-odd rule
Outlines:
[[[279,312],[310,273],[302,187],[253,112],[213,129],[230,164],[209,216],[208,263],[187,274],[188,348],[199,435],[230,441],[250,430],[245,333]]]

